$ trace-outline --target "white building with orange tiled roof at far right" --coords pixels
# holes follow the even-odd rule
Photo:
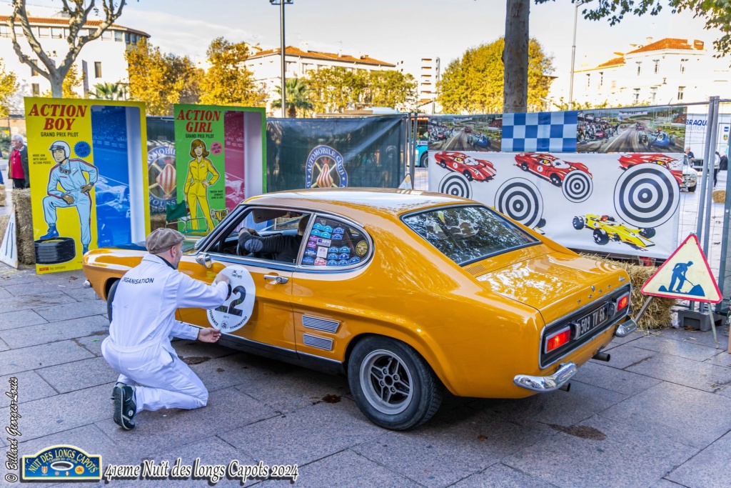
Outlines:
[[[615,53],[575,72],[574,102],[592,105],[667,105],[704,102],[731,91],[728,61],[714,59],[704,42],[665,38]]]

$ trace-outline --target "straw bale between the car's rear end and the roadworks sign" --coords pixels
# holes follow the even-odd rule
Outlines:
[[[655,274],[657,267],[640,266],[635,263],[602,258],[599,255],[593,254],[582,255],[584,258],[618,266],[629,274],[629,282],[632,283],[632,295],[630,296],[630,302],[632,304],[632,312],[636,315],[645,303],[645,300],[648,299],[648,296],[640,293],[640,288],[642,288],[645,282],[650,279],[653,274]],[[657,296],[654,297],[645,310],[643,316],[640,317],[640,321],[637,322],[637,326],[643,330],[667,329],[667,327],[672,326],[673,316],[671,314],[671,309],[675,306],[676,302],[677,300],[675,299],[661,299]]]

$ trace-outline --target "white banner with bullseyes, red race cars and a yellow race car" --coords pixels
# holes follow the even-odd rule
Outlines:
[[[429,190],[485,203],[566,247],[667,258],[678,154],[429,151]]]

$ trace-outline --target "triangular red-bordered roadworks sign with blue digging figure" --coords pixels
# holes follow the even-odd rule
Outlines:
[[[717,304],[721,301],[719,285],[713,277],[708,260],[695,234],[675,249],[670,258],[662,263],[655,274],[642,287],[645,295],[667,299],[704,301]]]

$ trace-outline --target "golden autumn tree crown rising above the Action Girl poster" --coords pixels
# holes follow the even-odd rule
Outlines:
[[[200,102],[204,105],[262,107],[266,93],[254,82],[254,75],[243,64],[249,58],[246,42],[229,42],[218,37],[206,51],[208,71],[200,80]]]

